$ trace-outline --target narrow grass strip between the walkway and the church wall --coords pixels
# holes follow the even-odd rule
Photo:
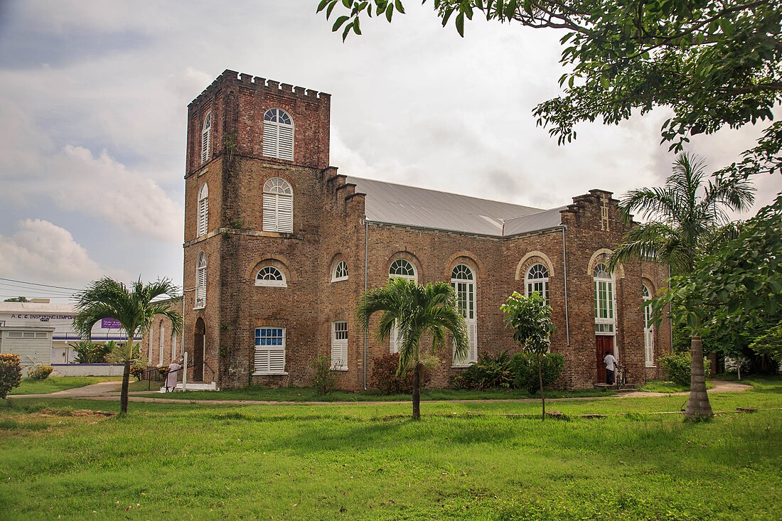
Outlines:
[[[130,390],[147,390],[147,382],[131,383]],[[152,382],[151,390],[160,390],[160,383]],[[119,389],[119,386],[117,386]],[[597,397],[611,396],[612,390],[583,389],[573,391],[547,390],[547,398]],[[156,398],[188,399],[188,400],[255,400],[255,401],[410,401],[410,394],[382,394],[375,391],[349,393],[334,391],[325,395],[317,394],[311,387],[270,387],[251,386],[242,389],[220,391],[186,391],[184,393],[165,393],[155,395]],[[443,400],[518,400],[530,398],[523,390],[455,390],[428,389],[421,391],[421,401]],[[534,396],[533,396],[534,397]]]

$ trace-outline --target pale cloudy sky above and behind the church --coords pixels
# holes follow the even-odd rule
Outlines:
[[[462,39],[407,2],[343,44],[317,3],[0,0],[0,278],[181,283],[186,107],[225,69],[331,93],[343,174],[543,208],[669,174],[664,110],[583,124],[568,146],[536,128],[561,34],[478,20]],[[716,170],[760,130],[691,152]],[[756,183],[756,207],[782,190]],[[2,298],[58,291],[0,280]]]

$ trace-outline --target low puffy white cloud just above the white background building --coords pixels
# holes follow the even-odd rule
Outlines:
[[[17,223],[13,236],[0,235],[0,273],[6,278],[83,286],[103,275],[127,280],[127,271],[100,266],[65,228],[41,219]]]

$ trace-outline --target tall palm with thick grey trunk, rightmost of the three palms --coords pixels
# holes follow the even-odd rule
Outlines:
[[[647,220],[626,233],[608,258],[608,269],[634,257],[656,255],[669,264],[676,275],[688,275],[699,258],[730,233],[726,209],[748,210],[755,200],[755,189],[748,181],[737,178],[706,180],[705,163],[687,153],[673,163],[673,174],[665,186],[627,192],[619,210],[627,221],[637,211]],[[700,329],[700,325],[692,328]],[[714,415],[708,403],[703,370],[703,343],[700,334],[691,336],[690,399],[684,416],[687,419]]]

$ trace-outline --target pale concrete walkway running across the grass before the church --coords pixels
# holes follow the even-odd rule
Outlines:
[[[712,380],[714,388],[709,389],[708,393],[741,393],[752,389],[745,383],[725,382],[723,380]],[[119,401],[120,392],[117,391],[119,382],[101,382],[94,383],[91,386],[77,387],[57,391],[51,394],[12,394],[9,398],[81,398],[88,400]],[[156,398],[149,395],[160,394],[156,390],[149,391],[131,391],[128,399],[130,401],[142,401],[158,404],[205,404],[205,405],[326,405],[326,404],[398,404],[399,401],[265,401],[265,400],[190,400],[187,398]],[[665,396],[687,396],[687,391],[683,393],[647,393],[645,391],[633,391],[630,393],[612,394],[611,396],[598,397],[570,397],[570,398],[547,398],[546,401],[572,401],[572,400],[606,400],[608,398],[639,398],[639,397],[665,397]],[[145,396],[147,395],[147,396]],[[443,401],[443,400],[437,400]],[[454,403],[474,403],[474,402],[537,402],[540,398],[518,398],[515,400],[447,400]]]

